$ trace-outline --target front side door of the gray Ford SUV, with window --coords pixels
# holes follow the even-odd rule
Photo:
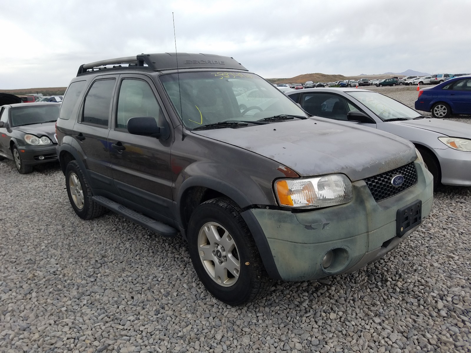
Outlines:
[[[145,75],[121,75],[116,114],[108,136],[114,185],[122,198],[172,218],[171,141],[131,135],[134,117],[153,117],[159,127],[166,119],[154,82]],[[168,120],[169,121],[169,120]],[[155,216],[154,216],[155,217]]]

